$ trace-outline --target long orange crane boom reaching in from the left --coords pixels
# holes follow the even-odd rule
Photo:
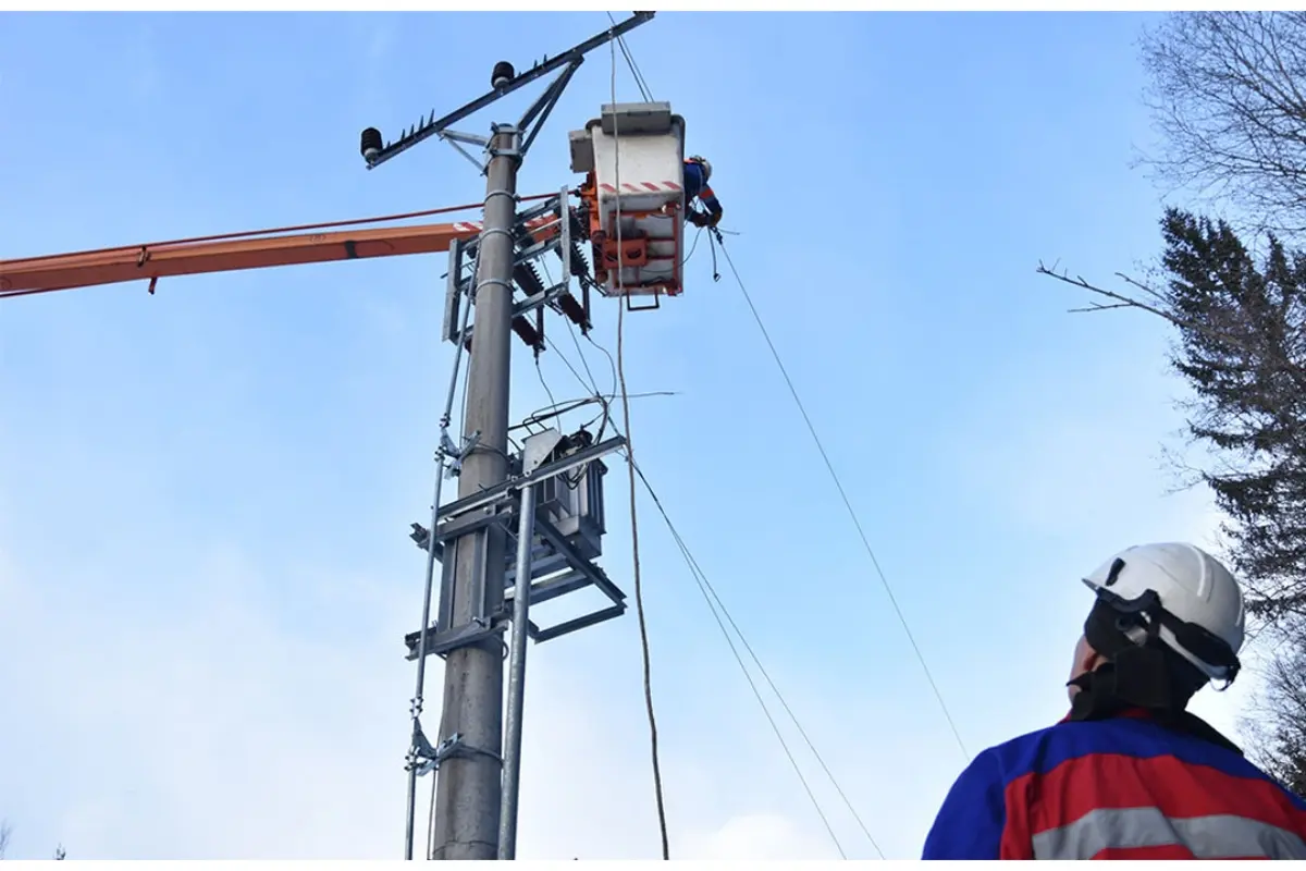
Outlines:
[[[558,231],[556,217],[537,218],[528,230],[538,240],[551,238]],[[468,221],[298,235],[232,234],[244,238],[208,236],[0,260],[0,298],[142,278],[150,279],[150,293],[154,293],[154,283],[170,276],[434,253],[448,251],[454,240],[471,239],[479,232],[481,223]]]

